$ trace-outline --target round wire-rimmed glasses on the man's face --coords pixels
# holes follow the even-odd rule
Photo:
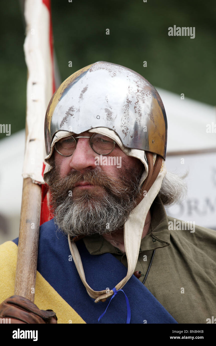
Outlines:
[[[109,155],[114,150],[116,142],[104,135],[93,134],[92,137],[89,136],[78,136],[73,137],[72,135],[68,137],[61,138],[58,142],[54,144],[54,148],[62,156],[71,156],[77,146],[76,138],[90,138],[90,146],[94,152],[98,155]]]

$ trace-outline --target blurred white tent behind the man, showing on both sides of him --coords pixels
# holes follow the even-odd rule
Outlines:
[[[168,122],[167,170],[183,174],[189,169],[188,197],[182,204],[167,208],[167,213],[216,229],[216,109],[156,89]],[[0,141],[0,244],[19,233],[24,150],[24,130]],[[4,220],[7,234],[3,232]]]

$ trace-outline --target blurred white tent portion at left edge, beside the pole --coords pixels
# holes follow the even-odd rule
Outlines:
[[[25,130],[0,140],[0,244],[19,235]]]

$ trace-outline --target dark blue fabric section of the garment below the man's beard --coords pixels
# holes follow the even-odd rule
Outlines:
[[[13,240],[18,244],[18,238]],[[96,290],[111,290],[127,274],[127,268],[112,254],[90,255],[83,240],[77,247],[83,263],[86,281]],[[80,280],[71,256],[68,238],[57,230],[53,219],[40,227],[37,270],[44,279],[61,295],[61,297],[84,319],[86,323],[119,324],[126,323],[127,306],[123,292],[118,292],[112,299],[105,315],[110,298],[106,302],[95,303],[86,292]],[[167,310],[157,301],[150,291],[132,275],[123,287],[130,308],[130,323],[177,323]]]

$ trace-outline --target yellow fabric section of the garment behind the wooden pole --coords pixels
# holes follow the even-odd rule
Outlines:
[[[0,245],[0,303],[14,295],[17,249],[18,247],[14,242],[6,242]],[[52,309],[55,311],[58,323],[86,323],[38,271],[34,303],[39,309]]]

